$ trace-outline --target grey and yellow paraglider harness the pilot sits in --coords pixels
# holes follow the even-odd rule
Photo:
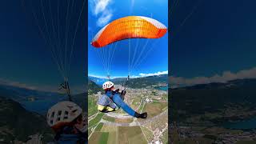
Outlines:
[[[110,96],[103,94],[102,97],[98,99],[97,104],[98,104],[98,110],[100,112],[108,113],[108,112],[116,110],[116,107],[118,107],[118,106],[116,106],[116,104],[113,102],[114,94],[120,95],[122,100],[124,100],[124,96],[126,95],[126,85],[127,85],[128,81],[129,81],[129,76],[126,79],[126,82],[124,82],[122,84],[122,86],[124,86],[125,88],[121,92],[119,89],[117,89],[117,90],[111,91]]]

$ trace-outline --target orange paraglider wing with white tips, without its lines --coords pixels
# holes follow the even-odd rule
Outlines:
[[[167,28],[153,18],[128,16],[110,22],[94,36],[91,45],[106,46],[127,38],[161,38]]]

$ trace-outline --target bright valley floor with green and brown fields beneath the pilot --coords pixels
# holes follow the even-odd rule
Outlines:
[[[97,102],[96,99],[98,96],[100,95],[95,94],[90,96],[89,101]],[[107,114],[98,112],[89,114],[89,142],[92,144],[146,144],[157,141],[167,143],[167,92],[154,89],[128,89],[125,101],[134,110],[139,112],[146,111],[148,118],[133,118],[125,114],[122,110]]]

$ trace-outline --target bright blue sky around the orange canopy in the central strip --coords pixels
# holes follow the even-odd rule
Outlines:
[[[138,15],[154,18],[168,26],[168,1],[147,1],[147,0],[90,0],[88,9],[88,41],[97,34],[103,26],[115,19],[129,15]],[[109,70],[105,70],[102,65],[101,57],[109,56],[106,50],[103,54],[95,51],[95,48],[88,43],[88,69],[89,75],[105,77],[109,73],[110,78],[127,77],[129,72],[129,43],[130,43],[130,63],[138,63],[131,71],[130,76],[146,76],[150,74],[166,74],[168,70],[168,34],[158,39],[141,39],[123,40],[112,47],[104,48],[114,52],[112,64]],[[136,46],[138,48],[136,51]],[[143,50],[143,47],[145,49]],[[140,53],[142,52],[142,54]],[[136,54],[135,54],[136,53]],[[111,54],[110,54],[111,55]],[[141,55],[141,57],[140,57]],[[105,58],[106,59],[106,58]],[[141,60],[141,61],[140,61]],[[108,61],[111,62],[111,61]],[[131,69],[131,68],[130,68]]]

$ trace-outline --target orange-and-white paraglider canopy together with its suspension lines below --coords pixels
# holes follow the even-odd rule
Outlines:
[[[114,58],[115,47],[118,42],[127,39],[129,44],[128,81],[132,71],[142,63],[147,54],[149,54],[150,50],[154,47],[155,43],[151,43],[150,46],[147,47],[150,39],[160,39],[166,32],[167,27],[154,18],[127,16],[118,18],[104,26],[94,35],[90,44],[94,46],[94,50],[98,53],[103,68],[106,70],[107,78],[110,81],[110,66]],[[131,48],[130,45],[132,38],[137,39],[137,43],[133,48]],[[142,44],[140,39],[144,38],[146,39],[146,43]],[[126,86],[126,84],[124,82],[123,86]]]

